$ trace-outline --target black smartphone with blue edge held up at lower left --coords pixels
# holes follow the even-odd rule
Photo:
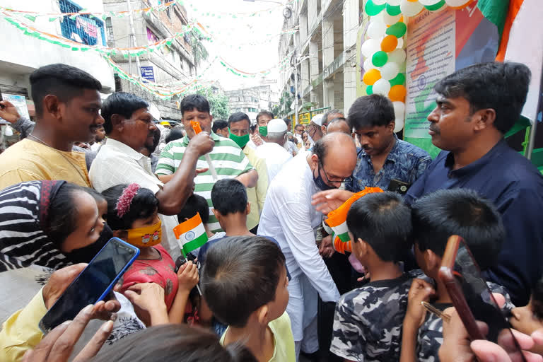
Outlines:
[[[108,241],[47,311],[40,321],[42,332],[73,320],[81,309],[103,299],[138,255],[138,248],[120,239]]]

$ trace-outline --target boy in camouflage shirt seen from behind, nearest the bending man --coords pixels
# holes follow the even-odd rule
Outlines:
[[[407,293],[421,276],[399,264],[411,247],[411,212],[398,194],[368,194],[354,202],[346,222],[370,279],[337,303],[330,351],[350,361],[397,361]]]

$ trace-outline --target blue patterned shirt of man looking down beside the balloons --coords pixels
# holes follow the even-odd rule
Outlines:
[[[377,175],[373,170],[371,157],[362,148],[358,148],[358,160],[353,176],[345,180],[345,189],[351,192],[359,192],[366,187],[380,187],[388,189],[390,180],[396,179],[407,182],[409,185],[415,182],[432,162],[428,152],[414,146],[409,142],[398,139],[388,153],[383,168]]]

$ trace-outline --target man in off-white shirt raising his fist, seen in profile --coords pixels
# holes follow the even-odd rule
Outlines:
[[[91,166],[93,187],[98,192],[116,185],[136,182],[150,189],[158,199],[158,213],[162,221],[162,245],[173,259],[181,250],[173,233],[179,223],[177,214],[192,194],[198,158],[214,146],[207,132],[194,136],[180,167],[167,184],[163,184],[151,170],[151,159],[140,153],[141,148],[153,144],[156,125],[148,111],[148,103],[131,93],[117,92],[104,101],[102,115],[107,143],[100,148]]]

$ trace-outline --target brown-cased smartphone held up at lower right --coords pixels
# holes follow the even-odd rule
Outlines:
[[[452,304],[472,340],[488,339],[496,343],[501,334],[508,333],[520,351],[506,316],[496,303],[489,286],[481,276],[472,252],[462,237],[452,235],[449,238],[438,278],[445,284]],[[489,326],[489,333],[486,336],[477,327],[476,320]],[[524,360],[524,357],[522,358]]]

